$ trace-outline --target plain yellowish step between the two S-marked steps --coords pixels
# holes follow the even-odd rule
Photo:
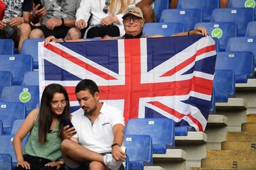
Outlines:
[[[207,158],[256,158],[251,150],[208,150]]]

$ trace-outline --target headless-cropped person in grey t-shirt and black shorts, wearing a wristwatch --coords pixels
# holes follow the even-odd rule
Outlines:
[[[75,27],[75,13],[81,0],[41,0],[40,5],[33,8],[31,15],[33,22],[40,22],[31,31],[31,39],[42,39],[54,35],[58,39],[79,39],[81,35],[72,27]]]

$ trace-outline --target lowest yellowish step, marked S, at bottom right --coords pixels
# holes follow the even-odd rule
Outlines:
[[[256,159],[244,158],[203,158],[202,167],[229,169],[256,169]]]

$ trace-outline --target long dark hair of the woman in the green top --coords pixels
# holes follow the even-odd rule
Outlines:
[[[58,84],[50,84],[46,86],[43,90],[41,105],[39,108],[38,139],[41,144],[47,141],[47,133],[52,125],[52,114],[54,113],[51,110],[51,101],[54,97],[54,93],[62,93],[65,96],[65,100],[67,101],[67,106],[65,106],[62,114],[58,115],[58,118],[61,119],[62,117],[70,116],[69,95],[67,94],[66,89],[62,87],[62,85]],[[59,123],[58,135],[61,139],[63,138],[62,123]]]

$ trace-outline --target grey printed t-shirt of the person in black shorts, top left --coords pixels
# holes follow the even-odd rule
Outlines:
[[[41,2],[47,11],[41,20],[41,25],[45,26],[50,18],[75,19],[81,0],[41,0]]]

